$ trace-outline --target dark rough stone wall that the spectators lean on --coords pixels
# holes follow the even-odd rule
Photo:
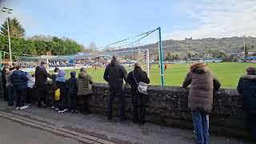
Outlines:
[[[97,83],[94,84],[93,90],[90,110],[96,114],[106,115],[109,99],[108,85]],[[148,92],[147,122],[193,130],[190,110],[187,108],[188,90],[175,86],[149,86]],[[129,86],[126,86],[125,95],[126,116],[132,119],[133,105]],[[79,101],[81,104],[81,100]],[[210,131],[212,133],[248,137],[246,115],[242,110],[242,96],[236,90],[218,90],[214,94],[213,107],[213,112],[210,114]],[[115,99],[114,115],[118,115],[118,98]]]

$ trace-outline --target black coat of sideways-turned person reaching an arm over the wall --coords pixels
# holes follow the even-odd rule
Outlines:
[[[52,76],[47,73],[44,67],[37,66],[35,69],[35,86],[38,89],[46,89],[47,77],[52,78]]]

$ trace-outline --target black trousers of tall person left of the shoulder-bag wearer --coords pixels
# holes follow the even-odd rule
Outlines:
[[[126,102],[125,102],[125,95],[123,94],[123,91],[110,91],[110,100],[109,100],[109,106],[108,106],[108,118],[112,118],[113,113],[113,103],[114,103],[114,97],[118,96],[119,104],[120,106],[120,120],[125,120],[125,108],[126,108]]]

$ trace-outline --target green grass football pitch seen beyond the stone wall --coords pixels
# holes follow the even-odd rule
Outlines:
[[[239,78],[246,74],[248,66],[256,66],[256,63],[242,63],[242,62],[222,62],[222,63],[208,63],[210,70],[218,77],[222,83],[222,88],[235,89],[238,85]],[[105,68],[87,69],[88,74],[92,76],[94,82],[105,82],[103,77]],[[129,73],[132,69],[126,68]],[[167,70],[164,71],[164,83],[166,86],[182,86],[182,82],[186,74],[190,70],[190,64],[168,64]],[[70,78],[70,72],[73,70],[66,70],[66,78]],[[78,72],[79,70],[75,70]],[[158,65],[152,65],[150,68],[150,84],[161,85],[161,78]]]

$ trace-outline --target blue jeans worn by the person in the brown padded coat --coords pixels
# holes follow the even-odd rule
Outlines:
[[[193,110],[192,119],[198,144],[209,143],[209,115],[201,111]]]

